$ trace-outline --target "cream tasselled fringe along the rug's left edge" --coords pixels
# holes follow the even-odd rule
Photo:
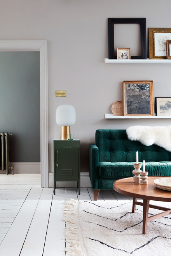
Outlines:
[[[76,223],[76,207],[78,201],[74,199],[66,200],[63,212],[63,221],[66,222],[65,237],[70,244],[65,251],[68,256],[85,256],[82,252],[81,241]]]

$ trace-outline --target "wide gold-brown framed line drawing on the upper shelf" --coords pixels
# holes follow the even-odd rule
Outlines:
[[[171,28],[148,28],[149,58],[166,59],[166,41],[171,40]]]

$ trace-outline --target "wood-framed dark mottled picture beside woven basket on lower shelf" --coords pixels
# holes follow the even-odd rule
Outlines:
[[[153,81],[123,81],[124,116],[154,116]]]

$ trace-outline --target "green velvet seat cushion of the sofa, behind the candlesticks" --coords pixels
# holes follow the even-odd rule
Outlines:
[[[103,178],[132,177],[133,165],[134,162],[99,162],[99,175]],[[149,176],[171,176],[171,162],[146,162],[145,167]]]

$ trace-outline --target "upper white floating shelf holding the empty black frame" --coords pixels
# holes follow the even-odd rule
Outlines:
[[[128,63],[145,63],[145,64],[171,64],[171,59],[169,60],[109,60],[109,59],[105,59],[105,63],[107,64],[128,64]]]

